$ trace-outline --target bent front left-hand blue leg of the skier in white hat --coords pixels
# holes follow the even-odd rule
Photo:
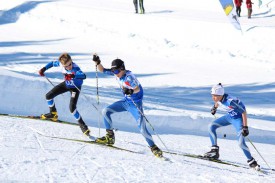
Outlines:
[[[228,115],[224,115],[208,125],[208,132],[212,146],[217,146],[216,130],[222,126],[230,125],[230,123],[228,122],[228,118],[230,118]]]

